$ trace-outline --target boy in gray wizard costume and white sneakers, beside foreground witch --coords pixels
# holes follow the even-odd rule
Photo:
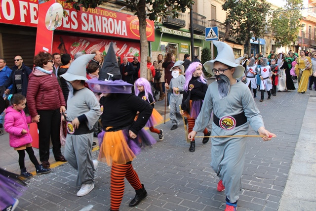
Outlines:
[[[78,170],[77,196],[84,196],[94,188],[94,171],[98,162],[92,160],[93,126],[101,115],[99,102],[84,86],[86,65],[95,54],[85,54],[74,60],[60,77],[66,80],[69,95],[63,121],[67,121],[65,157]]]

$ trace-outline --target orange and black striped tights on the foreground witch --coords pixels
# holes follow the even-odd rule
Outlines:
[[[142,188],[136,171],[133,169],[132,162],[126,164],[112,164],[111,168],[111,210],[118,211],[124,194],[124,177],[135,189]]]

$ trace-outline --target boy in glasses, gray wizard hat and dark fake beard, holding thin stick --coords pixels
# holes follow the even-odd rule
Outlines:
[[[249,125],[257,131],[264,141],[276,135],[265,129],[262,117],[247,85],[237,81],[244,68],[235,63],[233,49],[224,42],[214,41],[218,55],[207,61],[204,67],[215,75],[216,82],[210,84],[205,94],[201,111],[189,138],[202,132],[208,125],[213,111],[212,135],[228,135],[227,138],[212,138],[211,167],[220,178],[218,191],[226,188],[226,210],[236,211],[238,194],[241,191],[241,174],[245,160],[245,137]]]

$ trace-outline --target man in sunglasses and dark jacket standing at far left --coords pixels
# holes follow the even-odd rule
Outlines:
[[[13,84],[11,92],[12,94],[19,93],[26,96],[29,83],[29,75],[31,74],[32,70],[31,68],[23,64],[22,56],[15,56],[14,64],[15,66],[11,68],[12,73],[10,77],[3,84],[6,88],[5,94],[10,93],[10,89],[8,89],[8,87]]]

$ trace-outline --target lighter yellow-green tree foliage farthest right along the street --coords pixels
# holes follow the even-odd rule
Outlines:
[[[301,29],[300,20],[302,15],[300,8],[302,7],[303,0],[286,0],[284,8],[272,13],[270,25],[277,47],[291,45],[292,42],[297,41]]]

